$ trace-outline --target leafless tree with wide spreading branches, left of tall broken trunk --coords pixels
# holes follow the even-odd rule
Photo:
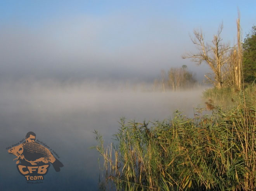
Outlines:
[[[189,53],[182,56],[182,58],[190,58],[191,61],[197,62],[198,65],[201,65],[202,62],[206,62],[213,71],[214,80],[212,80],[207,75],[204,76],[218,89],[220,89],[223,85],[223,76],[226,74],[225,71],[222,70],[222,67],[230,59],[230,57],[228,56],[230,45],[228,43],[225,44],[221,42],[222,39],[220,37],[220,34],[222,32],[222,29],[223,24],[220,24],[217,35],[214,35],[211,44],[204,42],[204,34],[202,30],[194,30],[195,37],[192,38],[190,36],[190,39],[195,44],[195,46],[197,46],[199,52],[195,54]]]

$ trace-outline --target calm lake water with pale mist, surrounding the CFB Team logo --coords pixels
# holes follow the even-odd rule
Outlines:
[[[149,91],[147,84],[142,89],[120,83],[54,81],[2,82],[0,89],[0,186],[11,190],[97,190],[99,154],[90,149],[97,144],[94,130],[108,143],[121,117],[126,121],[163,120],[171,118],[176,109],[192,117],[193,107],[202,104],[203,90],[163,93]],[[15,156],[6,150],[28,131],[55,150],[64,164],[61,172],[50,167],[43,184],[27,184],[17,172]]]

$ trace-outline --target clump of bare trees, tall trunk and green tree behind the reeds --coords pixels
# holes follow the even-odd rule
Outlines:
[[[239,16],[240,17],[240,16]],[[230,46],[223,43],[221,32],[223,25],[219,26],[211,43],[207,43],[201,31],[194,31],[192,43],[199,50],[197,53],[188,53],[182,58],[190,58],[191,61],[201,65],[205,62],[212,72],[205,75],[208,82],[217,89],[233,87],[241,90],[242,82],[253,82],[256,79],[256,26],[250,34],[247,34],[244,43],[240,41],[240,18],[237,19],[237,44]]]

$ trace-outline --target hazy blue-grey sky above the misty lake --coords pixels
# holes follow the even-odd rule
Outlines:
[[[0,2],[0,79],[145,79],[188,65],[201,78],[206,65],[181,55],[193,51],[189,34],[233,43],[237,7],[243,37],[255,25],[255,1],[25,1]]]

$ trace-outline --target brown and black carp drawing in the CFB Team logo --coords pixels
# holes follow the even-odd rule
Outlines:
[[[50,162],[52,163],[56,172],[59,172],[61,170],[60,167],[64,166],[58,159],[54,157],[48,148],[40,145],[37,142],[21,143],[20,145],[9,149],[8,152],[17,157],[16,164],[18,164],[20,160],[25,160],[31,165],[36,165],[39,162],[43,162],[45,164]]]

